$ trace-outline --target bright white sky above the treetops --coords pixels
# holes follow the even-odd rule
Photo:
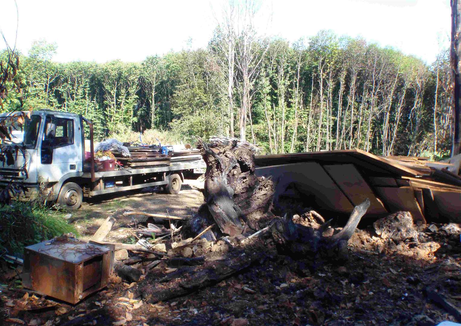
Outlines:
[[[10,45],[16,31],[13,0],[1,0],[0,29]],[[141,61],[148,55],[206,47],[222,1],[17,0],[17,47],[56,42],[56,61]],[[289,41],[331,29],[393,46],[428,63],[449,44],[449,0],[263,0],[260,14],[272,23],[260,33]],[[440,40],[440,41],[438,41]],[[1,46],[0,46],[1,47]]]

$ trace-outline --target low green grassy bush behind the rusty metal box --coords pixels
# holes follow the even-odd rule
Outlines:
[[[24,247],[49,240],[75,227],[63,219],[63,213],[38,202],[14,201],[0,208],[0,250],[22,257]]]

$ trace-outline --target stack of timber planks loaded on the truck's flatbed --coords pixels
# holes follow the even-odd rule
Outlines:
[[[113,152],[114,156],[122,163],[124,168],[169,166],[196,162],[201,159],[200,151],[197,149],[169,151],[168,155],[162,154],[161,148],[157,145],[130,146],[128,150],[131,154],[130,157],[122,156],[121,152]]]

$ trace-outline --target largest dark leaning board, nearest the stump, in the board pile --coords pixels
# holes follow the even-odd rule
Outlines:
[[[268,166],[256,168],[255,173],[258,176],[272,176],[276,184],[274,198],[282,195],[290,184],[295,184],[296,189],[306,195],[306,203],[309,196],[325,210],[350,213],[354,209],[349,199],[318,163]]]

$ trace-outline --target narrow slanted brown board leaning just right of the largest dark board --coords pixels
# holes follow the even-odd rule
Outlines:
[[[367,214],[387,213],[383,204],[376,199],[372,189],[353,164],[324,165],[324,169],[336,181],[352,204],[359,205],[368,198],[370,199],[370,208],[366,211]]]

